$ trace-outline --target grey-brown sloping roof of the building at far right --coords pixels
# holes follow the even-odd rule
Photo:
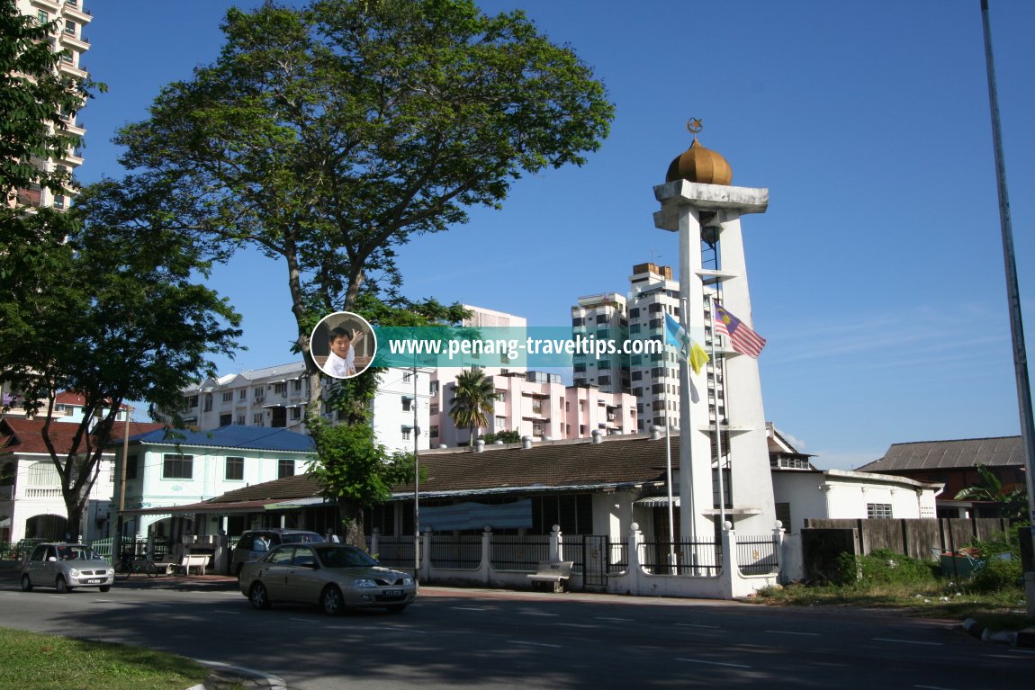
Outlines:
[[[896,443],[884,457],[858,468],[857,472],[964,469],[978,463],[989,468],[1024,467],[1021,437]]]

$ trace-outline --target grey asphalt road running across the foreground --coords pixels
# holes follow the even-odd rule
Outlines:
[[[292,690],[407,688],[1030,688],[1032,651],[954,622],[852,609],[422,588],[404,613],[257,611],[223,580],[130,578],[23,593],[0,625],[262,669]],[[205,582],[204,584],[202,582]]]

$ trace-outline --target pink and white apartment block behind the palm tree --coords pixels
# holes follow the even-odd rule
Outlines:
[[[449,417],[455,376],[440,370],[432,386],[431,442],[435,447],[467,445],[471,430],[456,428]],[[609,393],[596,386],[565,386],[558,373],[525,369],[483,368],[498,399],[489,426],[478,433],[518,431],[535,441],[588,439],[594,431],[608,436],[635,433],[635,399],[628,393]],[[456,373],[457,371],[453,371]]]

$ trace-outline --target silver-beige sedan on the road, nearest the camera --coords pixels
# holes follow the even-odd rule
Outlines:
[[[417,595],[409,573],[383,568],[355,546],[329,542],[282,544],[261,560],[245,563],[238,586],[256,608],[318,604],[329,616],[373,606],[397,613]]]

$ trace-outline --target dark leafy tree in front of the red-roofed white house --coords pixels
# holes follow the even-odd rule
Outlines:
[[[0,243],[0,271],[38,269],[31,282],[0,284],[0,379],[43,419],[76,536],[123,402],[179,409],[182,388],[214,374],[210,355],[230,354],[240,330],[229,304],[197,281],[207,264],[181,236],[84,222],[77,209],[66,217],[66,238]],[[63,390],[84,397],[68,447],[54,441],[72,424],[53,421]]]

